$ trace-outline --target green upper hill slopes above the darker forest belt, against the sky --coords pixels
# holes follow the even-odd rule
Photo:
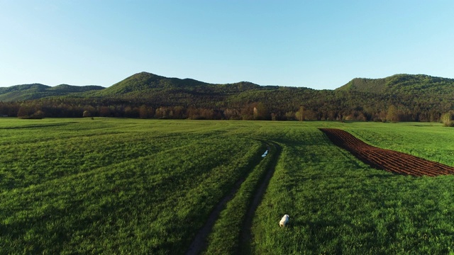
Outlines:
[[[55,96],[147,98],[156,94],[157,91],[234,95],[245,91],[279,89],[306,90],[308,88],[260,86],[248,81],[235,84],[208,84],[194,79],[168,78],[148,72],[140,72],[108,88],[67,84],[58,86],[23,84],[0,87],[0,101],[26,101]],[[454,79],[431,77],[424,74],[396,74],[382,79],[355,78],[335,90],[375,94],[450,94],[454,92]]]

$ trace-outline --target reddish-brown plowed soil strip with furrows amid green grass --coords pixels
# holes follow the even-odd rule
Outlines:
[[[438,162],[431,162],[391,149],[381,149],[362,142],[349,132],[333,128],[321,128],[335,145],[347,149],[362,162],[370,164],[377,169],[409,174],[412,176],[438,176],[441,174],[454,174],[454,168]]]

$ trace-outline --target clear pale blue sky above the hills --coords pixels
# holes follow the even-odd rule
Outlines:
[[[0,86],[454,78],[454,1],[0,0]]]

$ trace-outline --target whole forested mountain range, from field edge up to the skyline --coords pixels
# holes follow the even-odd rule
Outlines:
[[[0,88],[0,114],[21,118],[439,121],[454,109],[453,103],[454,79],[422,74],[357,78],[336,90],[246,81],[207,84],[147,72],[106,89],[42,84]]]

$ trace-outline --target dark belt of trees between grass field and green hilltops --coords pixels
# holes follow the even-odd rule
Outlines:
[[[169,99],[170,98],[170,99]],[[449,97],[278,89],[236,96],[160,98],[41,98],[0,102],[0,115],[18,118],[165,118],[200,120],[362,120],[439,122]]]

